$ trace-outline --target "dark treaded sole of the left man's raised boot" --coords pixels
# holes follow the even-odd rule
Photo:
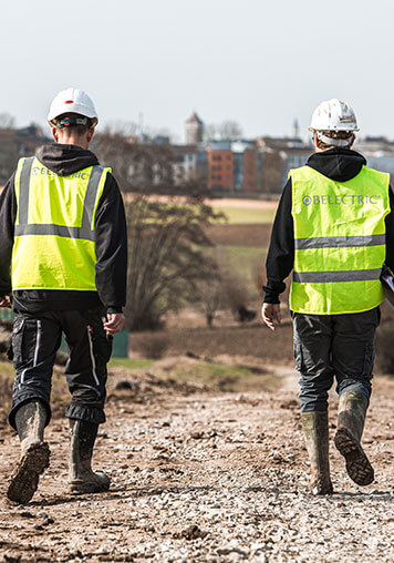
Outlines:
[[[46,442],[31,446],[19,460],[11,475],[7,497],[10,501],[27,504],[39,485],[41,473],[49,468],[50,449]]]

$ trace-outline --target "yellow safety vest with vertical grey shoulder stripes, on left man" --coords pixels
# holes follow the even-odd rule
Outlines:
[[[111,168],[59,176],[38,158],[20,158],[12,290],[96,290],[95,214]]]

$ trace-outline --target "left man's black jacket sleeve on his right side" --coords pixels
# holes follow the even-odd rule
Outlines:
[[[122,195],[107,174],[96,218],[96,288],[107,313],[122,313],[126,304],[127,228]]]

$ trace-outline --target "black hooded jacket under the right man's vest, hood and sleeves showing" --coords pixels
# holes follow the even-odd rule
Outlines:
[[[359,174],[366,164],[364,156],[348,149],[330,149],[314,153],[307,165],[335,182],[346,182]],[[391,213],[385,218],[386,224],[386,264],[394,269],[394,195],[390,190]],[[292,208],[291,178],[287,182],[279,202],[273,222],[271,242],[267,256],[267,285],[265,303],[279,303],[279,294],[284,291],[286,279],[294,263],[294,229]]]

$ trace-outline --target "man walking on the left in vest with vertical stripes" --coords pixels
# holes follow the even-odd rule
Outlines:
[[[17,377],[10,424],[21,459],[8,498],[25,503],[49,465],[44,428],[62,334],[69,347],[65,375],[70,419],[71,492],[110,487],[92,471],[98,424],[105,421],[106,364],[112,335],[124,325],[126,224],[111,168],[89,151],[97,124],[91,98],[79,89],[60,92],[48,121],[55,143],[20,158],[0,196],[0,306],[11,299]]]

